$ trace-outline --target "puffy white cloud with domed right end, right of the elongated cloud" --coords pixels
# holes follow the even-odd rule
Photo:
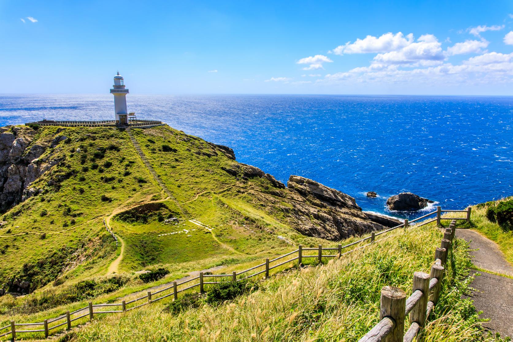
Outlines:
[[[411,43],[401,50],[378,53],[373,62],[379,64],[413,64],[433,65],[444,60],[441,43],[432,34],[424,34],[416,43]]]

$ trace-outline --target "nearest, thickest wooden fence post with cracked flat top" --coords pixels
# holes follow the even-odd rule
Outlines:
[[[380,319],[388,316],[396,322],[396,326],[382,340],[383,342],[403,341],[405,310],[406,292],[393,286],[385,286],[381,289]]]

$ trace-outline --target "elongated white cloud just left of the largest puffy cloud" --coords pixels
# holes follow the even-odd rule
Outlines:
[[[413,34],[406,37],[402,32],[385,33],[379,37],[367,35],[364,39],[357,39],[354,43],[347,42],[334,48],[331,52],[342,55],[344,53],[378,53],[397,51],[413,43]]]

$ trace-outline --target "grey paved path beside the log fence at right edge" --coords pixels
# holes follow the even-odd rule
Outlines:
[[[472,262],[478,268],[513,276],[513,267],[506,261],[494,241],[481,234],[457,229],[456,236],[470,241]],[[477,271],[472,271],[475,274]],[[472,281],[471,298],[482,318],[489,318],[483,326],[492,333],[513,337],[513,279],[491,273],[479,272]]]

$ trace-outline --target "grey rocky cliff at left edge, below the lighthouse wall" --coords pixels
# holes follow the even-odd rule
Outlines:
[[[38,158],[47,146],[30,146],[36,131],[29,127],[2,127],[0,132],[0,213],[3,213],[36,193],[24,194],[42,173]]]

